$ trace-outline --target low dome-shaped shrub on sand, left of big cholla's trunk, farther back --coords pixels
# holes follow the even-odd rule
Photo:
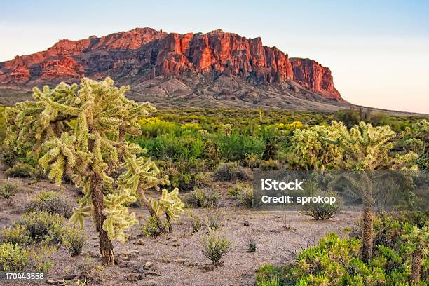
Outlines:
[[[55,191],[42,191],[25,206],[26,212],[46,211],[69,219],[73,207],[67,198]]]

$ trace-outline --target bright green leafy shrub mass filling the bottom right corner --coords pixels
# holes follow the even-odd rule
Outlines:
[[[423,237],[427,236],[425,229]],[[409,285],[411,257],[407,245],[402,243],[396,249],[377,245],[373,259],[365,263],[361,259],[361,240],[328,233],[315,247],[296,254],[294,264],[259,269],[257,285],[273,278],[278,278],[280,285]],[[425,261],[427,256],[423,255],[423,280],[418,285],[429,282],[423,273],[427,273]]]

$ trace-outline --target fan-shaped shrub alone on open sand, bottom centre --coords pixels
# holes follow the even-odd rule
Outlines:
[[[203,254],[212,261],[212,264],[222,265],[222,258],[229,252],[231,248],[231,240],[226,238],[219,231],[210,230],[201,239]]]

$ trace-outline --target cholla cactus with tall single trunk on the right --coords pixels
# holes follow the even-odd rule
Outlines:
[[[347,129],[343,123],[332,121],[332,128],[327,135],[327,142],[339,146],[343,151],[343,168],[346,170],[371,171],[371,170],[416,170],[414,164],[417,156],[410,152],[391,157],[389,151],[395,147],[391,141],[395,138],[395,132],[390,126],[372,126],[369,123],[360,122]],[[372,259],[373,248],[373,202],[372,182],[375,174],[359,172],[358,177],[343,175],[350,184],[357,189],[364,205],[363,231],[362,231],[362,260]]]

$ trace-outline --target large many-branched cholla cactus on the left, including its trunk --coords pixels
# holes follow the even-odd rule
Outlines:
[[[123,231],[137,222],[126,207],[136,200],[134,189],[121,179],[115,182],[111,173],[123,161],[145,160],[136,158],[144,150],[126,142],[125,135],[139,135],[138,119],[156,110],[149,103],[128,100],[128,89],[114,87],[109,78],[82,79],[80,86],[60,83],[53,90],[34,88],[35,101],[16,105],[19,139],[35,139],[34,151],[41,155],[39,163],[49,170],[49,178],[60,184],[68,175],[82,189],[83,198],[70,220],[82,225],[86,217],[93,218],[105,264],[114,264],[111,240],[124,241]],[[159,181],[152,175],[158,173],[143,170],[140,179],[156,186]]]

